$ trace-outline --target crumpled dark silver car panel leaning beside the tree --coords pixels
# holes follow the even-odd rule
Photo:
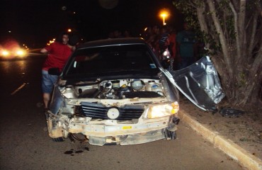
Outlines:
[[[216,104],[224,98],[224,93],[209,57],[203,57],[184,69],[162,72],[196,106],[204,111],[217,111]]]

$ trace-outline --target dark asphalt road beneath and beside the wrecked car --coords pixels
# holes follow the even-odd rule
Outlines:
[[[1,170],[243,169],[183,123],[172,141],[104,147],[70,140],[52,142],[41,106],[44,59],[0,62]]]

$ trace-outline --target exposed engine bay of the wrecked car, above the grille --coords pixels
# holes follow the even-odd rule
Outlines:
[[[114,79],[86,84],[78,82],[60,89],[66,98],[163,98],[161,81],[157,79]]]

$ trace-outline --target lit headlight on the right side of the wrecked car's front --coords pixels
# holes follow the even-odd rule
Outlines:
[[[147,118],[161,118],[178,113],[178,102],[164,105],[151,106],[147,113]]]

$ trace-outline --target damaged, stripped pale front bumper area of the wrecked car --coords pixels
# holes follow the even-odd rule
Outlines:
[[[86,135],[91,145],[136,145],[161,139],[176,138],[176,125],[179,118],[175,115],[136,124],[116,124],[110,120],[104,123],[89,121],[89,118],[71,118],[70,120],[47,120],[50,137],[67,137],[69,133]]]

